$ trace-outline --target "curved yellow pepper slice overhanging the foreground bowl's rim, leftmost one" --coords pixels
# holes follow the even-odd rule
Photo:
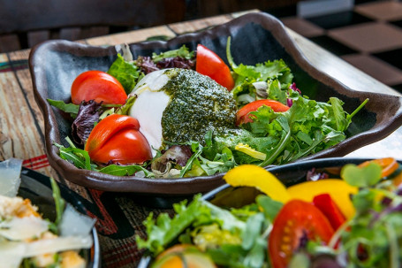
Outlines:
[[[286,203],[291,199],[284,184],[271,172],[258,165],[239,165],[224,175],[224,180],[233,187],[254,187],[270,198]]]

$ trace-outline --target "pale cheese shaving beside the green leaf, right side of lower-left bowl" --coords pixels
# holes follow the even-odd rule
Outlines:
[[[60,222],[60,235],[87,235],[95,225],[95,218],[87,217],[67,204]]]

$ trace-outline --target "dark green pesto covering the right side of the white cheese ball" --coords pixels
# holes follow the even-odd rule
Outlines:
[[[209,130],[235,126],[236,102],[226,88],[192,70],[170,69],[165,74],[171,80],[161,90],[171,102],[162,116],[164,141],[203,144]]]

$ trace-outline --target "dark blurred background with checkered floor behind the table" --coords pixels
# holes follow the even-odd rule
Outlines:
[[[0,53],[237,11],[260,10],[402,92],[397,0],[0,0]]]

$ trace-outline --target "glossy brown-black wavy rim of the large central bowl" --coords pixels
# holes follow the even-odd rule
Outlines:
[[[398,126],[402,125],[402,97],[390,96],[380,93],[370,93],[355,91],[347,88],[335,78],[330,77],[327,73],[316,69],[307,58],[301,53],[298,46],[292,40],[291,36],[287,34],[284,25],[275,17],[264,12],[251,12],[243,15],[237,19],[212,27],[210,29],[178,35],[167,42],[152,41],[152,42],[137,42],[130,44],[132,50],[135,49],[163,49],[169,46],[178,44],[200,41],[201,38],[212,38],[221,32],[230,33],[231,29],[236,29],[247,25],[247,23],[255,23],[270,31],[277,42],[284,47],[284,50],[293,58],[295,63],[300,66],[312,78],[322,82],[323,84],[337,88],[338,93],[359,98],[362,102],[365,98],[375,99],[381,97],[384,101],[394,103],[395,111],[394,119],[383,121],[382,124],[377,123],[372,129],[360,134],[355,134],[347,138],[344,142],[331,147],[330,149],[322,150],[315,155],[300,158],[297,162],[322,158],[322,157],[341,157],[345,154],[358,149],[361,146],[367,145],[383,139],[391,134]],[[47,90],[46,73],[40,68],[40,62],[43,61],[42,57],[47,50],[64,51],[73,53],[77,56],[92,56],[92,57],[105,57],[116,56],[118,46],[110,46],[107,48],[95,47],[78,42],[68,42],[64,40],[53,40],[42,42],[34,47],[29,56],[29,67],[34,85],[34,98],[38,103],[45,121],[45,146],[46,153],[49,158],[49,164],[57,170],[66,180],[79,184],[87,188],[95,188],[98,190],[113,191],[113,192],[131,192],[137,194],[148,195],[189,195],[197,192],[207,192],[211,188],[216,188],[224,182],[222,179],[223,173],[218,173],[211,176],[203,177],[190,177],[184,179],[148,179],[139,178],[135,176],[119,177],[100,172],[88,171],[78,169],[68,161],[63,160],[58,156],[58,149],[53,146],[53,142],[60,142],[60,135],[57,128],[57,120],[51,106],[46,101],[46,96],[42,95],[41,90]],[[48,92],[48,91],[46,91]],[[369,104],[368,104],[369,105]],[[179,187],[172,187],[179,185]]]

